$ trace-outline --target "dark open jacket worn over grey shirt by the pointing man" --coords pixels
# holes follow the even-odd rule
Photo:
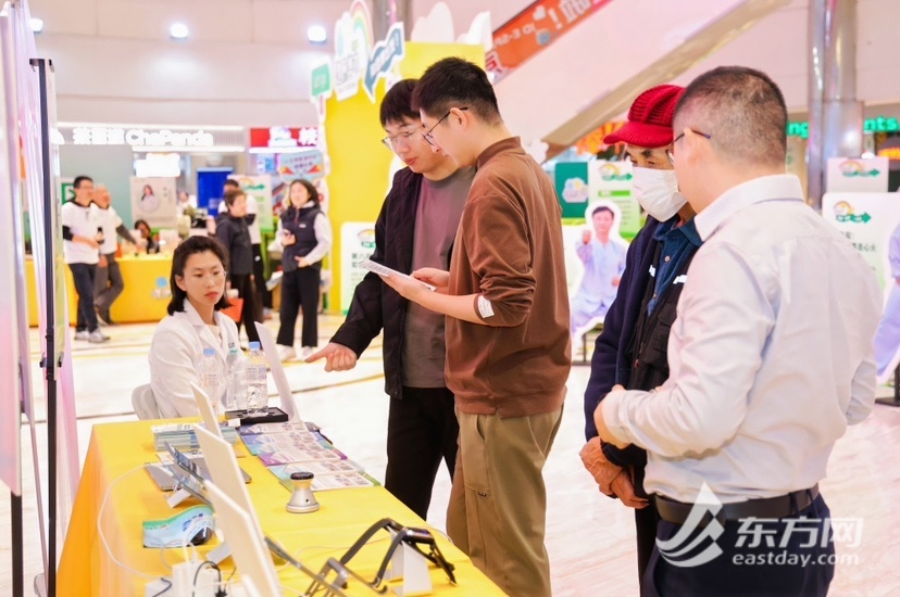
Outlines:
[[[393,186],[375,223],[375,252],[370,257],[373,262],[410,272],[421,189],[421,174],[403,168],[395,175]],[[384,328],[385,393],[392,398],[402,397],[400,371],[407,305],[405,298],[370,271],[353,292],[347,320],[332,338],[332,342],[349,347],[359,356]]]

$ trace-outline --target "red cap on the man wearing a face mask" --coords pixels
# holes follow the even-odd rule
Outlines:
[[[628,110],[625,126],[603,138],[608,145],[628,143],[641,148],[664,148],[672,142],[672,118],[684,87],[659,85],[638,96]]]

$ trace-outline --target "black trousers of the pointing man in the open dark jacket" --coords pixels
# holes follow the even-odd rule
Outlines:
[[[423,519],[441,460],[453,478],[459,434],[448,389],[403,388],[402,398],[390,399],[385,488]]]

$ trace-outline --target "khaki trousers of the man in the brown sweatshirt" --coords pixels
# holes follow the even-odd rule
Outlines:
[[[541,470],[562,409],[501,419],[457,411],[460,450],[447,532],[473,563],[513,597],[549,596]]]

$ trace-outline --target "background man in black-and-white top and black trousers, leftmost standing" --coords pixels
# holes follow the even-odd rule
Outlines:
[[[73,187],[75,200],[63,204],[61,217],[65,263],[72,271],[75,292],[78,294],[75,340],[98,344],[109,340],[100,331],[93,308],[93,288],[103,230],[98,213],[91,209],[93,180],[88,176],[76,176]]]

